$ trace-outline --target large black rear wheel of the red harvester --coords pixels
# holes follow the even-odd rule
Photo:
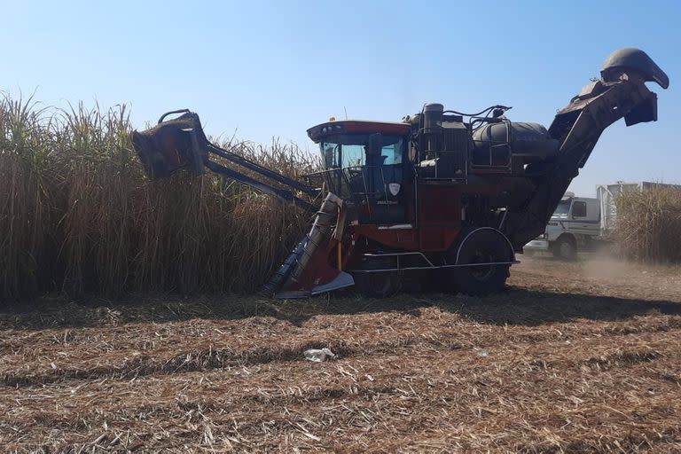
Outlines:
[[[454,251],[456,254],[456,251]],[[505,237],[489,229],[474,231],[458,252],[458,264],[511,262],[513,253]],[[461,294],[483,296],[501,292],[511,265],[450,268],[454,289]]]

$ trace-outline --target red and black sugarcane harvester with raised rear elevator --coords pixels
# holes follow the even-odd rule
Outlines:
[[[441,104],[398,122],[318,124],[308,135],[321,152],[324,169],[314,175],[321,189],[211,143],[187,110],[135,131],[133,144],[152,179],[208,168],[316,211],[309,233],[265,285],[268,294],[304,297],[355,285],[384,297],[413,276],[489,294],[505,286],[515,254],[544,231],[603,130],[621,118],[627,126],[657,120],[657,96],[646,82],[667,89],[669,78],[644,51],[615,51],[600,74],[549,129],[509,120],[507,106],[464,114]]]

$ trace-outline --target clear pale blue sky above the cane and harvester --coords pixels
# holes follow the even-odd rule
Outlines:
[[[198,112],[212,135],[314,149],[330,115],[399,120],[424,102],[556,109],[634,46],[669,74],[657,123],[607,129],[580,195],[616,180],[681,183],[681,2],[4,2],[0,90],[47,105],[126,103],[138,127]]]

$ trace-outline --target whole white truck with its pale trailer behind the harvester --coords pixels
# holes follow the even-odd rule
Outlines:
[[[575,259],[577,251],[593,249],[607,241],[614,231],[617,211],[614,200],[623,191],[645,191],[654,186],[674,186],[642,181],[638,183],[617,182],[596,186],[596,198],[575,197],[566,192],[546,230],[537,239],[530,241],[523,250],[548,251],[566,259]]]

